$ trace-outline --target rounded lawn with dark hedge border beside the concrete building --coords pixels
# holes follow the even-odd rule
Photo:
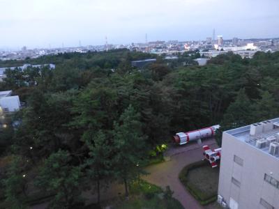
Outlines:
[[[206,205],[216,200],[218,193],[219,167],[211,168],[206,161],[195,162],[185,167],[179,179],[199,203]]]

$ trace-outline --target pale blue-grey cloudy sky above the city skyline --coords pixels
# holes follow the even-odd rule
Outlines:
[[[0,49],[279,37],[278,0],[0,0]]]

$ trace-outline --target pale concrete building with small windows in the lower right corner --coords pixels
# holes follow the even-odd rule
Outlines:
[[[218,201],[279,208],[279,118],[223,132]]]

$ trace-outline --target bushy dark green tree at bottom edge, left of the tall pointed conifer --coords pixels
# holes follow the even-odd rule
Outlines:
[[[72,157],[59,150],[45,160],[36,178],[36,185],[47,192],[56,192],[52,208],[70,208],[80,201],[81,168],[71,165]]]

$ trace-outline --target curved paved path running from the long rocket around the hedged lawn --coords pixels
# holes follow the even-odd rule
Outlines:
[[[193,198],[193,196],[188,193],[188,191],[182,185],[179,180],[179,173],[183,167],[186,167],[186,165],[202,160],[202,146],[205,144],[210,145],[213,148],[217,147],[215,140],[207,139],[201,145],[196,143],[187,144],[177,148],[176,150],[170,149],[170,160],[147,167],[146,171],[151,174],[144,176],[144,180],[163,187],[163,189],[169,185],[170,189],[174,191],[174,198],[178,199],[186,209],[204,208]]]

